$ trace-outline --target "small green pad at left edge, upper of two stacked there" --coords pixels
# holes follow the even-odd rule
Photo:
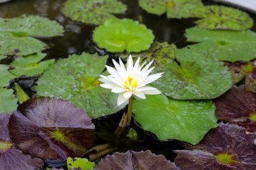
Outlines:
[[[9,85],[9,81],[14,79],[15,76],[11,75],[8,71],[9,67],[7,65],[0,65],[0,88]]]

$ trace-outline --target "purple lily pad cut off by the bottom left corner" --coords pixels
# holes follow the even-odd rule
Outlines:
[[[11,141],[8,132],[10,114],[0,114],[0,169],[4,170],[32,170],[41,167],[43,161],[25,155]]]

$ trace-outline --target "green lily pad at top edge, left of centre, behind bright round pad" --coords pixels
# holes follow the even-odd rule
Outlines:
[[[117,0],[69,0],[62,12],[74,21],[99,25],[115,17],[111,13],[125,13],[126,9],[126,5]]]

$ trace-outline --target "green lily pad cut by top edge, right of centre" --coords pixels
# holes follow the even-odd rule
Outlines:
[[[168,18],[183,18],[195,17],[193,11],[203,7],[203,3],[201,0],[139,0],[139,6],[156,15],[167,13]]]

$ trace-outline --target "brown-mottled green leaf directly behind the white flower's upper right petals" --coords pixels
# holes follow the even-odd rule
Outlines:
[[[141,57],[143,62],[154,60],[154,65],[165,65],[175,58],[175,50],[176,46],[174,44],[168,44],[167,42],[154,42],[150,49],[139,52],[139,53],[131,53],[134,57]],[[121,58],[128,58],[127,54],[117,54]],[[136,59],[136,58],[134,58]]]

